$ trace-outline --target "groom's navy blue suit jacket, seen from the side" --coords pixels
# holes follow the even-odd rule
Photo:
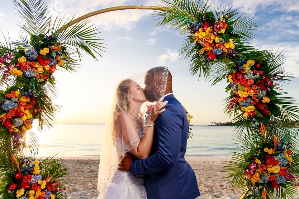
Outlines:
[[[194,199],[200,196],[193,169],[184,158],[189,126],[186,112],[171,94],[154,126],[151,155],[135,159],[130,173],[144,174],[149,199]]]

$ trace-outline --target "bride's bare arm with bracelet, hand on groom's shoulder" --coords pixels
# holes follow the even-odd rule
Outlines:
[[[167,104],[166,102],[162,102],[162,103],[157,103],[151,111],[151,117],[148,120],[148,124],[152,125],[154,124],[154,122],[156,121],[158,115],[160,113],[163,113],[165,111],[165,109],[160,110],[161,108],[163,108],[165,105]],[[126,125],[125,122],[129,122],[129,121],[125,121],[125,119],[123,117],[121,117],[121,131],[122,131],[122,139],[125,142],[125,144],[128,145],[134,145],[136,147],[134,147],[131,150],[131,153],[133,153],[137,158],[139,159],[145,159],[147,157],[149,157],[150,155],[150,150],[152,148],[152,144],[153,144],[153,137],[154,137],[154,126],[150,126],[146,128],[145,134],[142,137],[142,139],[138,139],[139,138],[139,134],[136,131],[132,120],[130,119],[130,125]],[[128,127],[129,126],[129,127]],[[133,138],[137,138],[135,141],[133,141],[134,143],[132,143],[132,141],[129,139],[129,133],[127,131],[130,131],[130,134],[132,137],[132,135],[134,135]],[[131,138],[132,139],[132,138]]]

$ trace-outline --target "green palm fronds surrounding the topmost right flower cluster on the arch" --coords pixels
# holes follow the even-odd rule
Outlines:
[[[209,1],[190,1],[190,0],[173,0],[173,1],[161,1],[164,7],[164,11],[156,11],[156,14],[153,16],[158,17],[156,20],[160,20],[156,26],[169,24],[171,27],[175,29],[180,29],[180,34],[183,35],[188,33],[189,27],[185,22],[184,18],[188,17],[194,21],[206,21],[206,12],[209,11],[211,7],[211,3]],[[245,40],[251,39],[254,37],[254,31],[257,30],[258,27],[257,22],[249,17],[240,15],[237,10],[226,9],[226,7],[217,7],[215,8],[215,12],[209,12],[213,18],[219,19],[221,16],[226,15],[226,21],[230,21],[230,26],[233,26],[233,30],[230,35],[241,39],[236,42],[236,49],[238,52],[243,53],[248,50],[254,49],[249,45],[244,43]],[[214,21],[210,21],[212,23]],[[184,39],[182,47],[179,51],[179,55],[183,56],[185,59],[190,58],[190,73],[192,76],[198,74],[199,78],[204,76],[205,80],[208,80],[211,76],[211,67],[215,65],[223,65],[221,60],[217,61],[208,61],[205,55],[198,55],[198,50],[196,49],[196,45],[194,44],[194,37],[192,35],[188,36],[189,38]],[[213,72],[212,72],[213,73]],[[216,78],[213,81],[215,84],[218,81],[221,81],[224,76],[216,75]]]

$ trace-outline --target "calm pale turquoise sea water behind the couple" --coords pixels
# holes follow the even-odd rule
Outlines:
[[[193,137],[187,141],[186,155],[226,156],[236,151],[233,145],[234,127],[191,126]],[[100,155],[101,137],[104,124],[58,123],[51,130],[38,132],[37,125],[32,129],[40,139],[37,156],[74,157]]]

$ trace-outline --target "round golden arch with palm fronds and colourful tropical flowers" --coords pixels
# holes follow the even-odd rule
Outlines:
[[[53,74],[59,69],[76,71],[80,51],[97,60],[103,51],[97,27],[88,17],[123,9],[155,10],[159,25],[169,24],[181,35],[180,55],[189,61],[192,75],[212,85],[226,80],[229,93],[225,112],[234,114],[236,138],[241,152],[232,153],[222,168],[231,185],[244,188],[242,198],[294,198],[299,180],[297,102],[281,92],[279,85],[290,81],[282,64],[284,54],[259,50],[249,40],[257,24],[237,10],[203,1],[163,1],[162,6],[120,6],[74,18],[51,18],[42,0],[12,0],[24,23],[18,41],[0,45],[0,196],[3,199],[66,198],[60,181],[68,174],[61,159],[36,160],[26,157],[38,147],[34,119],[39,128],[51,127],[57,105]],[[286,96],[286,97],[285,97]],[[26,141],[26,133],[30,139]],[[25,144],[27,142],[27,144]],[[293,144],[294,143],[294,144]],[[41,194],[41,191],[44,194]]]

